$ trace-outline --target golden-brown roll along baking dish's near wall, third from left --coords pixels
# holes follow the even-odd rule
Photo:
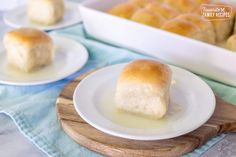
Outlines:
[[[179,35],[183,35],[189,38],[193,38],[196,40],[203,39],[203,34],[200,28],[195,24],[193,24],[192,22],[188,22],[186,20],[180,20],[180,19],[169,20],[165,24],[163,24],[161,29]]]

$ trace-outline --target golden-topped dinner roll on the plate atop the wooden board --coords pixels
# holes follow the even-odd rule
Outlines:
[[[117,82],[115,101],[118,109],[163,118],[168,110],[171,69],[153,60],[127,64]]]

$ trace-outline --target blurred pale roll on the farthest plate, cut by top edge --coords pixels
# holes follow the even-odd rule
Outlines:
[[[29,0],[28,17],[32,22],[52,25],[64,16],[63,0]]]

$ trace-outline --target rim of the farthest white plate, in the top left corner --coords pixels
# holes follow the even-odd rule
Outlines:
[[[66,1],[66,5],[68,6],[73,6],[75,11],[76,12],[76,6],[78,5],[79,3],[78,2],[72,2],[72,1]],[[3,14],[3,21],[6,25],[8,25],[9,27],[11,28],[21,28],[21,27],[29,27],[27,25],[21,25],[21,24],[17,24],[17,23],[14,23],[12,22],[11,20],[8,19],[8,16],[12,13],[15,12],[15,10],[18,10],[18,9],[23,9],[23,8],[26,8],[27,5],[21,5],[21,6],[18,6],[12,10],[9,10],[7,12],[5,12]],[[40,26],[39,27],[36,27],[37,29],[40,29],[42,31],[53,31],[53,30],[57,30],[57,29],[63,29],[63,28],[66,28],[66,27],[69,27],[69,26],[73,26],[73,25],[76,25],[76,24],[79,24],[82,22],[82,18],[81,18],[81,15],[80,13],[77,11],[76,12],[79,16],[78,20],[77,21],[74,21],[73,23],[71,24],[65,24],[65,25],[62,25],[62,26],[57,26],[57,24],[55,26]],[[37,25],[36,25],[37,26]]]

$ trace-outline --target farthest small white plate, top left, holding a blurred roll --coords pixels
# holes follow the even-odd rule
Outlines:
[[[78,3],[66,2],[65,15],[62,21],[51,26],[42,26],[31,23],[27,16],[27,6],[21,6],[4,14],[4,22],[13,28],[34,27],[44,31],[50,31],[68,27],[81,22],[81,17],[78,12]]]

